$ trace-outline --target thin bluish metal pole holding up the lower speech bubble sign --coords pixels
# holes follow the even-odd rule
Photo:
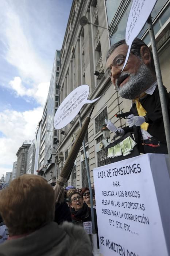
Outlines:
[[[79,118],[79,123],[80,123],[80,128],[81,128],[82,124],[81,124],[80,112],[78,113],[78,118]],[[90,192],[90,205],[91,205],[91,215],[92,215],[92,233],[96,234],[96,229],[95,229],[95,225],[94,225],[93,193],[92,193],[92,186],[91,186],[90,173],[89,173],[89,165],[88,165],[88,161],[87,161],[87,155],[86,155],[86,148],[85,148],[84,140],[83,140],[82,144],[83,144],[84,160],[85,160],[85,165],[86,165],[86,172],[87,172],[89,192]]]

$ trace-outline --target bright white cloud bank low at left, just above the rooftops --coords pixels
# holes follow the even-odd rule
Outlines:
[[[42,117],[42,107],[25,112],[4,110],[0,112],[1,132],[5,137],[0,138],[0,177],[12,171],[13,162],[17,160],[16,153],[24,140],[33,140],[35,129]],[[11,165],[11,170],[5,165]]]

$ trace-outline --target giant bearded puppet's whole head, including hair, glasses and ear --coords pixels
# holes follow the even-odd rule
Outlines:
[[[155,82],[155,67],[150,49],[136,38],[132,43],[128,62],[121,72],[127,51],[125,40],[111,46],[106,55],[106,76],[111,77],[122,98],[135,99]]]

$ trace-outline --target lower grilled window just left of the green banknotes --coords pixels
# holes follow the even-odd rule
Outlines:
[[[100,143],[103,140],[103,135],[98,137],[96,139],[96,144]],[[103,165],[108,165],[111,163],[110,159],[107,158],[108,154],[108,149],[102,148],[100,151],[97,152],[97,166],[103,166]]]

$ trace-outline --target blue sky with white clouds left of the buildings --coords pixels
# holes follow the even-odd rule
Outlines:
[[[72,0],[0,1],[0,177],[34,139]]]

